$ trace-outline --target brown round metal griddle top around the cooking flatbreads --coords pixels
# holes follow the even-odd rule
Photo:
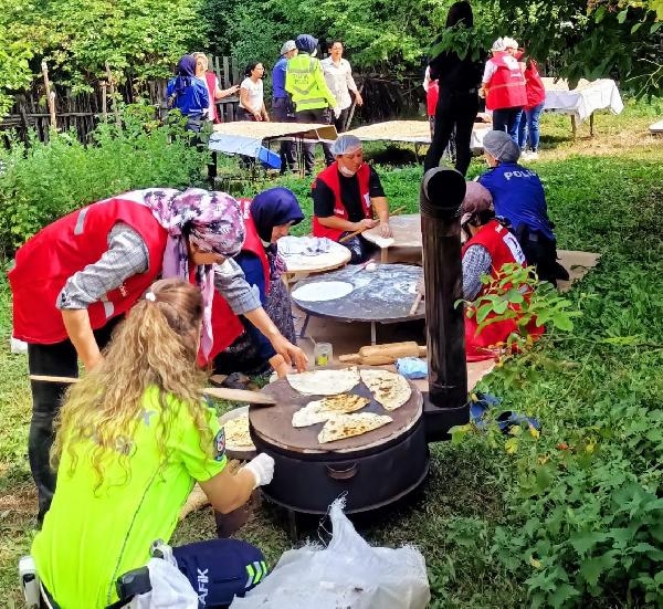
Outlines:
[[[369,366],[360,368],[369,368]],[[274,397],[277,406],[272,408],[251,406],[249,409],[249,421],[254,433],[264,441],[295,452],[325,453],[366,450],[401,435],[419,420],[422,413],[423,400],[421,392],[412,382],[410,382],[410,387],[412,388],[410,399],[403,406],[390,412],[372,399],[371,392],[360,381],[350,393],[370,398],[370,402],[356,412],[388,414],[393,421],[368,433],[335,442],[318,443],[317,435],[325,423],[316,423],[303,428],[293,427],[293,413],[299,408],[305,407],[308,402],[319,400],[324,396],[303,396],[298,391],[295,391],[285,379],[276,380],[263,387],[262,391]]]

